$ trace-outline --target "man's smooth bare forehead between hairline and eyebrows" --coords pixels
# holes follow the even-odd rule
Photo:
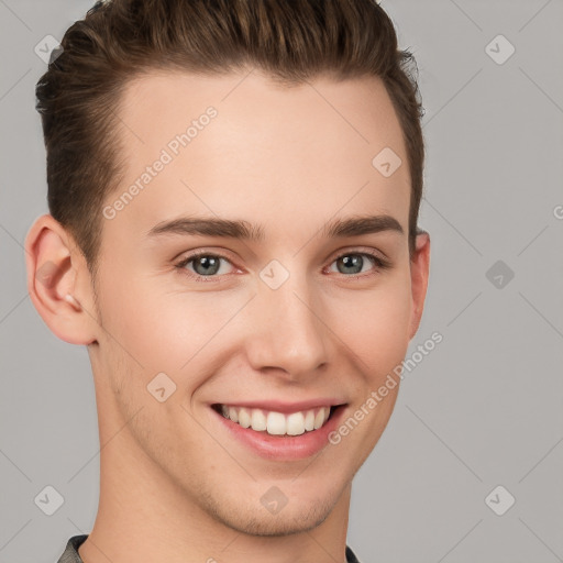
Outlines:
[[[140,188],[120,211],[121,225],[146,233],[186,212],[260,213],[262,223],[287,231],[288,219],[312,229],[340,210],[388,213],[407,229],[407,154],[377,78],[287,87],[257,70],[151,73],[128,85],[118,114],[125,174],[108,201]],[[389,150],[402,164],[386,177],[374,157]],[[165,164],[148,173],[157,161]]]

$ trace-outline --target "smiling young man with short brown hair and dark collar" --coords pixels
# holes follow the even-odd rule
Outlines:
[[[357,561],[351,484],[429,274],[393,23],[372,0],[110,0],[62,45],[29,291],[88,346],[101,451],[59,562]]]

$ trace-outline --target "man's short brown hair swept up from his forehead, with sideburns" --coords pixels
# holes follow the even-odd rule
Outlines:
[[[407,147],[412,255],[422,196],[423,110],[413,56],[398,49],[393,22],[375,0],[100,1],[66,31],[62,47],[36,86],[47,199],[90,272],[101,241],[101,207],[121,180],[120,95],[151,68],[225,74],[253,66],[286,84],[321,73],[335,79],[379,77]]]

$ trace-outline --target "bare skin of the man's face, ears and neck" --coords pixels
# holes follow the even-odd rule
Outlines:
[[[399,386],[339,444],[286,461],[231,439],[210,405],[333,398],[352,416],[418,330],[430,240],[418,235],[409,258],[408,159],[379,80],[288,88],[246,75],[150,73],[128,86],[118,110],[125,177],[108,206],[206,108],[217,115],[102,220],[97,301],[60,224],[43,216],[27,234],[33,303],[58,338],[88,346],[95,377],[100,501],[79,548],[85,563],[344,561],[352,478]],[[402,161],[389,177],[372,165],[384,147]],[[321,232],[329,221],[382,214],[402,232]],[[187,216],[260,223],[264,236],[147,235]],[[177,267],[196,250],[221,256],[219,271],[203,276],[201,261]],[[338,260],[357,255],[357,275]],[[289,274],[277,289],[260,276],[274,260]],[[47,262],[56,268],[48,285],[35,277]],[[147,393],[158,373],[176,385],[162,402]],[[261,503],[273,486],[288,499],[276,515]]]

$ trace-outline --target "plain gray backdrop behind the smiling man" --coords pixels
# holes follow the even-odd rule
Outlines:
[[[22,249],[47,210],[34,46],[92,3],[0,0],[0,563],[56,561],[97,509],[88,355],[36,313]],[[406,373],[356,475],[349,543],[363,563],[563,561],[563,2],[383,5],[427,111],[432,267],[409,355],[434,331],[443,342]],[[504,64],[486,51],[498,34],[516,48]],[[497,261],[501,283],[487,277]],[[46,485],[64,496],[51,517],[34,504]],[[504,516],[485,503],[498,485],[489,506],[516,498]]]

